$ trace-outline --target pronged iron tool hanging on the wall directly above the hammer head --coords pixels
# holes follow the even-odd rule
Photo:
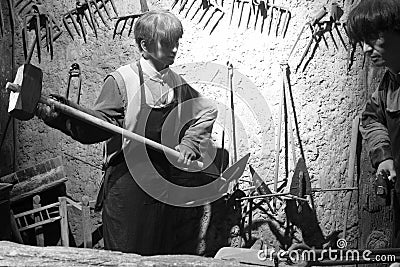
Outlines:
[[[29,47],[28,31],[35,31],[35,42]],[[42,35],[42,32],[43,35]],[[45,47],[50,52],[50,58],[53,59],[53,42],[61,35],[61,27],[51,15],[41,0],[35,1],[31,5],[31,10],[24,16],[22,40],[25,61],[30,62],[34,47],[37,47],[39,63],[41,61],[42,40],[45,40]],[[29,49],[28,49],[29,47]]]

